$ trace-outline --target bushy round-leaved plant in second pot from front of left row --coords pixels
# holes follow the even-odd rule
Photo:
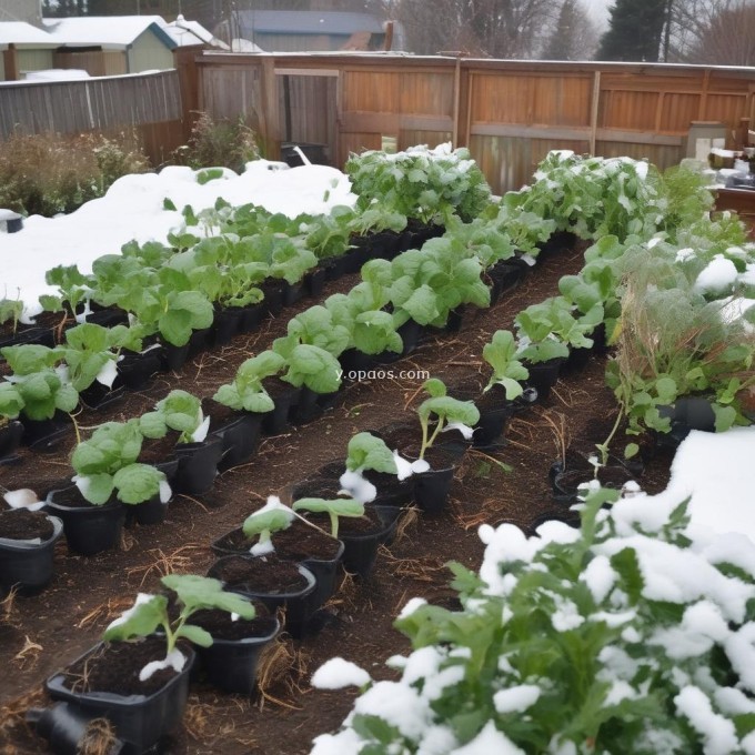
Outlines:
[[[73,449],[73,482],[87,501],[102,505],[113,493],[128,504],[143,503],[158,494],[163,502],[170,500],[165,474],[137,462],[142,439],[139,420],[105,422]]]

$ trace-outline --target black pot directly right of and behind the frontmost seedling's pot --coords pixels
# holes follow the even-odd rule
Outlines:
[[[251,695],[256,687],[260,654],[280,632],[276,618],[270,618],[270,631],[243,640],[214,637],[210,647],[198,647],[197,655],[204,675],[221,692]]]

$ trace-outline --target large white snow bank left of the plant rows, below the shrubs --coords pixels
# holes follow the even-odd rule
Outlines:
[[[299,213],[325,213],[336,204],[353,205],[354,194],[344,173],[326,165],[288,168],[284,163],[256,160],[236,175],[225,171],[220,180],[197,182],[190,168],[169,167],[160,173],[124,175],[108,193],[60,218],[32,215],[18,233],[0,234],[2,281],[0,299],[21,299],[24,319],[41,311],[38,298],[54,293],[44,282],[47,270],[77,263],[83,273],[103,254],[120,253],[131,240],[164,242],[180,230],[180,212],[163,209],[170,198],[181,210],[195,212],[214,207],[222,197],[233,205],[259,204],[290,218]],[[212,233],[212,229],[207,230]]]

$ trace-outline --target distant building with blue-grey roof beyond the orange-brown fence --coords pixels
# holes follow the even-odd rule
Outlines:
[[[242,10],[223,21],[215,36],[226,41],[245,39],[265,52],[383,50],[386,24],[370,13]],[[404,49],[399,24],[394,24],[391,49]]]

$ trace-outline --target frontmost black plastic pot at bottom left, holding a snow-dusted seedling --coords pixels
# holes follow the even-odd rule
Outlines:
[[[95,645],[74,663],[99,652],[100,647],[101,645]],[[110,721],[119,739],[124,743],[123,754],[140,755],[157,747],[183,717],[189,697],[189,672],[195,654],[191,647],[183,647],[181,652],[187,656],[183,671],[151,695],[73,692],[67,686],[63,674],[54,674],[47,680],[44,686],[52,699],[67,702],[82,716]]]

